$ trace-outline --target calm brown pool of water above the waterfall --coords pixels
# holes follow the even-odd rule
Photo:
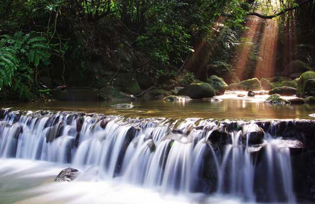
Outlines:
[[[239,93],[239,92],[237,92]],[[136,101],[132,109],[116,109],[113,102],[29,102],[2,104],[16,110],[52,110],[103,113],[140,118],[204,118],[204,119],[315,119],[315,105],[272,105],[265,103],[268,95],[254,98],[236,97],[236,93],[219,96],[222,102],[202,100],[163,102]]]

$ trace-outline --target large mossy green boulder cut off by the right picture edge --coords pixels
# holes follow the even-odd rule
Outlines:
[[[298,79],[297,94],[299,97],[315,96],[315,72],[306,71]]]

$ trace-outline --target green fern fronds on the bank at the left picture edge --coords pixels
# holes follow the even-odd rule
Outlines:
[[[9,87],[20,98],[28,98],[34,71],[49,64],[49,48],[46,38],[36,33],[1,35],[0,88]]]

